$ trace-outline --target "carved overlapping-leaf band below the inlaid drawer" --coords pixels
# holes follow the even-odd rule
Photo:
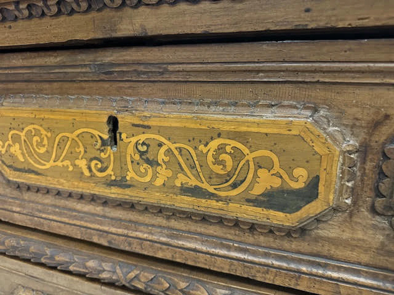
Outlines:
[[[79,253],[74,249],[60,248],[47,242],[0,232],[0,253],[43,263],[77,275],[96,278],[104,283],[112,283],[152,295],[253,295],[255,293],[236,288],[226,288],[214,282],[193,279],[186,275],[173,274],[153,267],[141,266],[100,255]],[[31,289],[20,287],[13,294],[28,293]],[[33,290],[32,290],[33,291]]]

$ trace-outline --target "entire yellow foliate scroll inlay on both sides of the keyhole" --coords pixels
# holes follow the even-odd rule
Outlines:
[[[79,137],[84,133],[95,137],[97,143],[95,147],[97,149],[102,149],[100,157],[102,159],[109,159],[109,164],[105,170],[100,171],[103,165],[99,160],[92,160],[88,167],[87,159],[84,157],[86,147]],[[23,131],[13,130],[9,132],[8,140],[5,143],[0,141],[0,152],[5,154],[9,151],[15,155],[20,162],[28,161],[39,170],[59,166],[66,167],[68,171],[72,171],[74,170],[75,165],[82,170],[85,176],[94,175],[97,177],[105,177],[107,175],[111,175],[111,178],[115,179],[113,172],[113,151],[109,146],[102,147],[102,141],[108,139],[108,135],[104,135],[94,129],[78,129],[73,133],[59,133],[54,140],[53,146],[50,147],[48,144],[48,138],[51,136],[52,134],[50,132],[38,125],[29,125],[24,128]],[[131,162],[132,159],[136,161],[140,160],[140,153],[147,150],[147,144],[144,141],[147,139],[157,140],[162,144],[157,154],[157,160],[160,165],[156,168],[156,179],[152,182],[155,186],[162,186],[168,178],[173,175],[173,170],[167,168],[166,165],[166,162],[169,161],[169,157],[172,155],[177,159],[178,164],[184,171],[184,173],[177,174],[177,178],[175,179],[176,186],[181,187],[183,184],[199,186],[200,188],[219,196],[234,196],[242,193],[249,187],[254,178],[256,178],[255,184],[253,189],[249,191],[249,193],[253,195],[260,195],[270,188],[277,188],[281,186],[282,179],[292,188],[303,188],[305,186],[305,181],[308,178],[307,170],[297,167],[293,170],[293,177],[297,180],[291,180],[286,171],[280,167],[277,155],[271,151],[260,149],[258,151],[250,152],[246,146],[235,140],[219,138],[212,140],[206,146],[204,144],[199,146],[199,151],[206,154],[207,164],[212,171],[222,175],[229,173],[233,169],[233,160],[230,154],[234,153],[234,149],[238,149],[242,152],[243,159],[238,163],[234,175],[232,175],[228,181],[216,185],[210,184],[206,180],[203,169],[199,164],[197,154],[191,146],[180,143],[173,144],[163,136],[154,134],[142,134],[128,138],[127,133],[123,133],[122,139],[124,142],[128,143],[125,154],[125,160],[128,166],[126,178],[132,182],[137,181],[145,183],[151,181],[153,178],[152,166],[146,163],[141,164],[139,166],[139,173],[143,173],[144,175],[139,176],[138,173],[134,171]],[[60,145],[59,143],[61,140],[65,140],[66,143]],[[73,142],[76,143],[73,150],[77,153],[78,157],[71,161],[68,158],[70,158],[70,150]],[[221,145],[225,147],[226,153],[221,153],[218,156],[218,160],[219,162],[222,162],[222,164],[217,164],[214,159],[214,155],[216,155],[218,147]],[[195,177],[193,173],[191,173],[188,165],[186,165],[184,159],[180,155],[180,149],[186,150],[191,155],[198,177]],[[50,158],[44,159],[41,155],[48,151],[50,151]],[[258,157],[269,158],[273,163],[273,167],[270,169],[259,168],[255,173],[254,160]],[[242,184],[231,189],[232,184],[234,184],[240,170],[244,166],[248,167],[245,179]]]

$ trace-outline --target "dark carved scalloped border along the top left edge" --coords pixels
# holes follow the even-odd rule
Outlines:
[[[186,1],[196,3],[199,0]],[[176,2],[180,0],[20,0],[0,3],[0,21],[72,15],[121,6],[136,8],[145,5],[175,4]]]

